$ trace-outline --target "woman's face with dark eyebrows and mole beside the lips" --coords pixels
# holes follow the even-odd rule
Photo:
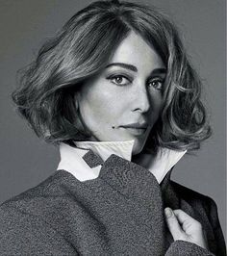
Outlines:
[[[135,140],[133,154],[139,154],[161,113],[164,78],[161,57],[131,32],[105,69],[76,95],[91,140]]]

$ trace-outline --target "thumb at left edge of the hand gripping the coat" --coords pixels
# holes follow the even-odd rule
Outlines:
[[[173,211],[167,207],[164,209],[164,215],[165,215],[165,220],[166,220],[168,229],[169,229],[174,241],[181,240],[182,237],[184,236],[184,232],[183,232],[177,218],[175,217]]]

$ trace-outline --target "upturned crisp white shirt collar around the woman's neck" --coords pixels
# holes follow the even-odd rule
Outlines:
[[[131,161],[134,141],[75,141],[75,145],[77,147],[60,144],[61,162],[58,169],[64,169],[78,180],[86,181],[97,178],[101,169],[101,166],[90,168],[84,161],[83,156],[88,149],[98,154],[103,161],[112,154]],[[140,155],[137,164],[148,169],[161,183],[165,174],[186,152],[160,147],[155,157],[148,154]]]

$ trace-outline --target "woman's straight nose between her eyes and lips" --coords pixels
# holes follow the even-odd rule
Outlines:
[[[134,104],[132,111],[146,113],[150,109],[150,97],[145,84],[138,84],[134,91]]]

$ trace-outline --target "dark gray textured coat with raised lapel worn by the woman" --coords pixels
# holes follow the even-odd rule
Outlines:
[[[100,160],[89,151],[89,166]],[[200,221],[210,251],[173,242],[164,207]],[[111,155],[98,178],[81,182],[58,170],[0,207],[0,255],[226,255],[214,201]]]

